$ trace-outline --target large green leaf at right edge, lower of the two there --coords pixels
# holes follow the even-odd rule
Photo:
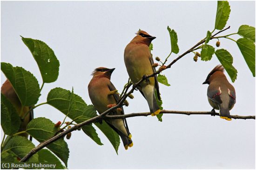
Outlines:
[[[236,44],[242,52],[243,58],[251,70],[252,75],[255,77],[255,44],[247,38],[238,39]]]

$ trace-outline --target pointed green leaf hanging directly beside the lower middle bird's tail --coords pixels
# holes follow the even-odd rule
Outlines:
[[[100,123],[94,123],[108,138],[110,143],[113,145],[116,154],[118,154],[118,148],[120,145],[120,138],[119,135],[110,127],[108,124],[102,120],[102,124]]]

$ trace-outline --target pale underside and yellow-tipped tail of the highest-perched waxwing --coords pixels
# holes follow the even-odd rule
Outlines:
[[[142,88],[142,92],[148,102],[151,116],[155,116],[156,114],[159,114],[160,108],[155,99],[155,93],[154,93],[155,87],[152,85],[147,85],[145,88]]]

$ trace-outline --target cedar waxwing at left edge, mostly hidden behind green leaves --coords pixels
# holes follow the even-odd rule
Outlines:
[[[12,84],[9,82],[9,80],[6,80],[2,87],[1,87],[1,93],[6,96],[6,98],[13,104],[13,107],[16,108],[17,113],[19,114],[20,118],[22,118],[30,109],[30,107],[23,107],[23,110],[21,111],[22,105],[20,102],[19,97],[17,96],[16,92],[13,89]],[[31,110],[27,116],[24,118],[24,120],[21,121],[20,129],[18,132],[26,131],[27,124],[34,118],[34,112]],[[21,133],[20,136],[28,137],[27,133]],[[32,140],[32,137],[30,136],[30,140]]]

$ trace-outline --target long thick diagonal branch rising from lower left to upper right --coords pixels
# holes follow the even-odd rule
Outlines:
[[[230,26],[222,31],[225,31],[227,29],[229,29]],[[217,32],[215,35],[213,35],[211,37],[214,38],[214,36],[216,36],[217,34],[221,33],[222,31],[219,31]],[[170,68],[174,63],[176,63],[179,59],[181,59],[183,56],[185,56],[186,54],[189,54],[191,51],[193,51],[197,46],[199,46],[200,44],[204,43],[205,42],[205,38],[202,39],[200,42],[198,42],[197,44],[195,44],[193,47],[191,47],[189,50],[187,50],[186,52],[184,52],[182,55],[180,55],[179,57],[177,57],[175,60],[173,60],[170,64],[168,64],[166,66],[166,69]],[[163,71],[163,70],[162,70]],[[56,136],[52,137],[51,139],[48,139],[42,143],[40,143],[38,146],[36,146],[34,149],[32,149],[25,157],[23,157],[20,162],[26,162],[30,157],[32,157],[36,152],[40,151],[42,148],[46,147],[47,145],[53,143],[54,141],[60,139],[60,138],[63,138],[65,135],[67,135],[67,133],[70,133],[72,131],[75,131],[77,130],[78,128],[82,127],[82,126],[85,126],[85,125],[89,125],[93,122],[96,122],[98,120],[102,120],[104,118],[105,115],[107,115],[108,113],[110,113],[112,110],[118,108],[118,107],[121,107],[123,102],[125,101],[125,99],[128,97],[129,94],[132,94],[134,92],[134,90],[141,84],[141,82],[143,82],[144,80],[148,79],[149,77],[153,77],[157,74],[159,74],[161,71],[156,71],[155,73],[153,73],[152,75],[145,75],[141,78],[141,80],[137,83],[135,83],[132,87],[132,89],[127,93],[128,91],[128,88],[131,86],[129,85],[125,91],[125,94],[121,97],[120,101],[116,104],[115,107],[112,107],[112,108],[109,108],[108,110],[106,110],[104,113],[101,113],[100,115],[94,117],[94,118],[91,118],[89,120],[86,120],[80,124],[77,124],[73,127],[71,127],[70,129],[67,129],[66,131],[64,132],[61,132],[59,134],[57,134]],[[145,115],[143,115],[145,116]],[[235,118],[234,118],[235,119]]]

